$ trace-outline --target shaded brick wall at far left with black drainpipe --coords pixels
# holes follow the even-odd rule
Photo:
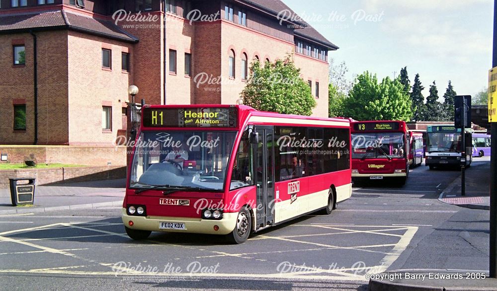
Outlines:
[[[38,144],[68,143],[67,31],[37,32]],[[13,66],[12,44],[23,43],[26,63]],[[34,143],[33,37],[0,35],[0,144]],[[25,99],[26,130],[13,130],[13,101]]]

